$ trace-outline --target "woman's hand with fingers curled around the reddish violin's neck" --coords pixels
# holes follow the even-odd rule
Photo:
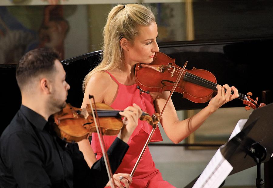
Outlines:
[[[239,97],[238,90],[236,87],[232,86],[229,87],[227,84],[220,86],[217,85],[217,95],[211,99],[208,106],[213,108],[214,111],[216,111],[219,107],[221,107],[223,104]],[[225,89],[227,90],[225,92]],[[231,94],[231,91],[234,91],[234,94]]]

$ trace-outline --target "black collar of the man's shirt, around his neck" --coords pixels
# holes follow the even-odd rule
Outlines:
[[[41,130],[44,129],[47,121],[39,115],[37,112],[31,110],[30,108],[21,104],[20,108],[21,112],[25,115],[25,117],[36,127]]]

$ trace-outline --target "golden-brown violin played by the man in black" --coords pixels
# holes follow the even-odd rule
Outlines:
[[[123,127],[120,111],[113,110],[104,103],[96,103],[96,107],[98,108],[96,115],[99,117],[101,133],[103,135],[117,135]],[[54,114],[53,117],[54,132],[66,142],[79,142],[87,138],[90,133],[97,132],[89,104],[83,109],[66,104],[66,107]],[[147,112],[142,112],[140,120],[147,121],[155,127],[159,121],[159,114],[155,113],[150,116]]]

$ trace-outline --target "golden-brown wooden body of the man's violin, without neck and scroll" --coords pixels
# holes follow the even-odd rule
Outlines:
[[[96,103],[97,108],[112,109],[103,103]],[[110,108],[109,108],[110,107]],[[79,142],[89,135],[96,132],[96,126],[93,120],[90,106],[86,109],[72,107],[66,104],[62,111],[54,114],[54,131],[57,135],[67,142]],[[99,117],[99,123],[104,135],[117,135],[123,127],[120,116]]]

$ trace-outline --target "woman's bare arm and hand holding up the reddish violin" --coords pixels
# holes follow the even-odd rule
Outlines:
[[[224,91],[225,88],[226,92]],[[231,90],[234,91],[234,94],[231,94]],[[184,140],[184,138],[199,128],[219,107],[239,96],[238,90],[234,86],[229,87],[227,84],[223,87],[217,85],[217,91],[217,95],[211,99],[207,107],[203,108],[196,115],[182,121],[179,121],[177,117],[173,102],[169,101],[160,123],[172,142],[179,143]],[[154,101],[157,112],[162,111],[169,94],[170,92],[167,91],[157,96]]]

